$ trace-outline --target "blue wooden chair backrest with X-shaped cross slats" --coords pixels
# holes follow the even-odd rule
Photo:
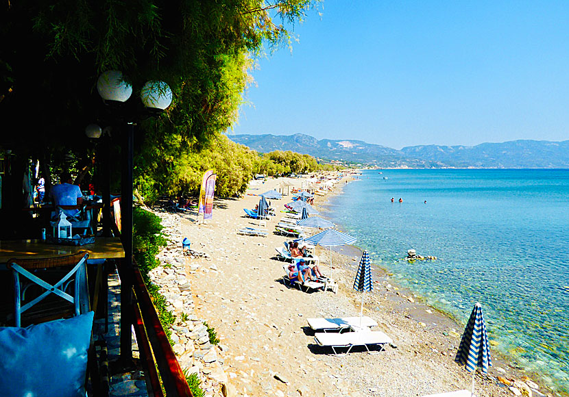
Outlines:
[[[75,316],[80,313],[86,313],[89,310],[86,274],[86,259],[88,256],[89,254],[86,251],[80,251],[76,254],[62,255],[59,257],[10,259],[7,267],[12,270],[14,277],[14,319],[16,326],[21,326],[21,314],[24,311],[30,309],[51,294],[73,303]],[[54,274],[56,269],[67,271],[56,283],[50,284],[38,277],[38,270],[45,271],[45,274]],[[50,270],[52,271],[50,272]],[[60,274],[58,274],[58,276],[59,275]],[[24,282],[21,280],[21,276],[25,277],[27,281]],[[66,292],[66,288],[69,283],[71,283],[71,281],[68,280],[73,276],[75,276],[73,280],[75,283],[73,296],[71,296]],[[39,285],[45,292],[22,305],[25,299],[25,292],[27,288],[32,285]]]

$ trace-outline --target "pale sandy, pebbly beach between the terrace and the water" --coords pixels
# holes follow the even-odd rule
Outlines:
[[[221,340],[219,361],[227,374],[226,394],[424,396],[470,388],[470,374],[454,361],[462,326],[398,288],[389,274],[377,268],[374,292],[365,295],[364,316],[376,320],[374,330],[383,331],[394,343],[377,354],[353,348],[343,356],[315,344],[307,318],[359,316],[361,294],[352,289],[359,252],[345,247],[332,254],[336,294],[306,293],[284,285],[283,262],[276,259],[275,248],[290,238],[271,232],[291,195],[271,201],[277,212],[267,221],[267,236],[237,233],[241,227],[258,227],[258,220],[245,218],[243,208],[254,208],[259,197],[253,194],[278,183],[279,179],[253,181],[252,190],[240,199],[215,199],[213,219],[205,224],[196,222],[195,214],[174,215],[180,218],[177,234],[191,240],[192,250],[208,254],[208,258],[186,257],[186,275],[195,313],[215,328]],[[302,179],[294,183],[300,188]],[[344,184],[338,183],[327,196],[315,196],[315,206],[322,208]],[[324,274],[330,274],[328,248],[317,247],[315,253]],[[476,374],[477,396],[515,395],[498,376],[504,383],[511,381],[516,391],[524,389],[520,381],[532,385],[496,355],[492,359],[488,375]],[[548,394],[533,389],[533,396],[540,395]]]

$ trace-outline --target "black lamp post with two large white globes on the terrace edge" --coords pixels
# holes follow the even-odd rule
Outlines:
[[[132,96],[132,86],[119,71],[106,71],[97,80],[97,91],[103,102],[112,108],[112,116],[125,123],[121,144],[121,241],[125,259],[121,266],[121,362],[132,360],[132,170],[134,152],[134,126],[139,120],[162,113],[172,102],[172,92],[163,81],[147,81],[141,89],[143,109],[123,106]]]

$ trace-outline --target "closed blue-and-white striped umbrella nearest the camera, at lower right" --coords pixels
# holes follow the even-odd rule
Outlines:
[[[480,303],[476,303],[474,309],[472,309],[470,319],[462,334],[455,361],[459,364],[464,364],[466,370],[472,372],[472,396],[474,396],[474,374],[476,374],[476,368],[480,368],[482,372],[487,374],[488,368],[492,366],[490,345],[488,344],[486,324]]]

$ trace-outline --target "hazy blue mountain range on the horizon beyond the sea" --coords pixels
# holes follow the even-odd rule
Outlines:
[[[295,151],[320,159],[382,168],[569,168],[569,140],[514,140],[476,146],[408,146],[401,150],[361,140],[317,140],[302,133],[289,136],[229,135],[261,153]]]

